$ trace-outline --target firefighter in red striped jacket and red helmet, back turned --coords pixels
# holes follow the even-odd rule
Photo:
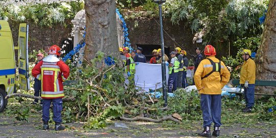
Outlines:
[[[32,70],[32,75],[35,78],[41,78],[41,98],[42,105],[42,121],[43,129],[49,129],[49,109],[53,103],[53,120],[55,121],[55,130],[64,130],[65,127],[61,125],[61,111],[63,85],[70,73],[70,68],[62,60],[59,60],[60,48],[58,45],[52,45],[49,50],[49,55],[36,64]]]

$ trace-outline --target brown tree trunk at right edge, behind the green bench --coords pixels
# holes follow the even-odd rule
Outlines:
[[[276,0],[270,0],[265,27],[256,57],[256,79],[276,81]],[[257,92],[273,94],[275,87],[256,87]]]

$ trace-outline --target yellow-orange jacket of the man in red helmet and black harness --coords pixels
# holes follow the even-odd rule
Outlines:
[[[215,56],[209,56],[214,62],[219,62]],[[207,95],[220,95],[221,89],[230,79],[230,73],[223,62],[221,62],[221,70],[219,72],[213,72],[210,76],[201,79],[206,74],[213,71],[213,65],[208,59],[202,60],[195,72],[194,80],[199,94]]]

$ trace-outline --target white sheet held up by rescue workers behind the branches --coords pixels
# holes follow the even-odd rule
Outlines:
[[[127,77],[125,77],[127,78]],[[169,79],[169,66],[166,65],[166,83]],[[141,87],[142,90],[149,91],[162,87],[162,69],[161,64],[140,63],[135,65],[135,84],[136,87]],[[128,80],[125,81],[128,84]]]

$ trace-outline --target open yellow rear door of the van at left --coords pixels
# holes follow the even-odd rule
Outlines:
[[[29,54],[28,54],[29,25],[20,24],[18,34],[18,72],[19,87],[22,90],[30,90],[29,79]]]

